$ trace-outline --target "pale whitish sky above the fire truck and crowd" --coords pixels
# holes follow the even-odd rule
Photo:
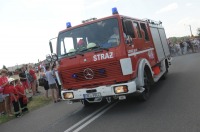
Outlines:
[[[89,18],[119,14],[162,21],[167,37],[197,34],[200,0],[0,0],[0,69],[44,60],[49,39]]]

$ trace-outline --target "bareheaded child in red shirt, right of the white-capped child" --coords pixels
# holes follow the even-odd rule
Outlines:
[[[27,108],[27,97],[25,94],[25,88],[22,85],[22,83],[20,82],[20,80],[15,80],[15,88],[18,91],[18,95],[19,95],[19,104],[22,110],[22,113],[28,112],[28,108]]]

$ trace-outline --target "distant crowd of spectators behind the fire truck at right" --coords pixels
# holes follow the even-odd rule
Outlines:
[[[177,43],[169,42],[169,49],[171,56],[200,52],[200,40],[195,38]]]

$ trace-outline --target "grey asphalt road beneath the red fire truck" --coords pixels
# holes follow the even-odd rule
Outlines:
[[[175,57],[147,102],[134,97],[84,108],[50,104],[0,125],[1,132],[200,132],[200,54]]]

